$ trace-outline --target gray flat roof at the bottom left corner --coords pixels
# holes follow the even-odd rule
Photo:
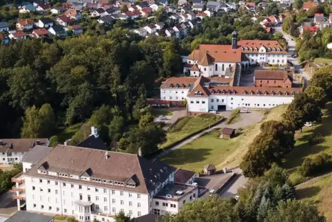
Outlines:
[[[53,222],[53,216],[46,216],[36,213],[30,213],[20,210],[16,214],[10,216],[6,222]]]

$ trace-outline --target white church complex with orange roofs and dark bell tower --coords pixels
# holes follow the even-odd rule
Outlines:
[[[191,77],[230,77],[239,66],[247,70],[249,64],[269,63],[286,65],[287,52],[278,41],[240,40],[238,34],[232,33],[231,45],[200,45],[187,57],[184,72]]]

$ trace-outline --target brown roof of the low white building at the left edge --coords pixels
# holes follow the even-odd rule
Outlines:
[[[0,152],[28,152],[38,140],[38,145],[48,145],[48,139],[0,139]]]

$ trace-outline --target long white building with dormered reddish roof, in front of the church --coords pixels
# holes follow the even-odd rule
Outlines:
[[[231,81],[203,76],[169,78],[160,87],[160,100],[176,103],[179,100],[176,94],[179,94],[187,100],[188,114],[199,114],[237,108],[273,108],[291,103],[294,95],[302,91],[302,88],[232,86]]]

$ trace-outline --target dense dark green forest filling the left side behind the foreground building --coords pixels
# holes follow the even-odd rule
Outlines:
[[[85,123],[72,138],[75,143],[96,125],[106,143],[150,152],[165,141],[165,132],[153,123],[145,99],[158,91],[158,79],[182,72],[180,55],[200,43],[229,44],[234,30],[240,39],[278,39],[287,47],[282,36],[266,34],[249,16],[207,18],[202,27],[181,41],[142,39],[113,28],[103,35],[0,44],[0,137],[50,138],[60,128]]]

